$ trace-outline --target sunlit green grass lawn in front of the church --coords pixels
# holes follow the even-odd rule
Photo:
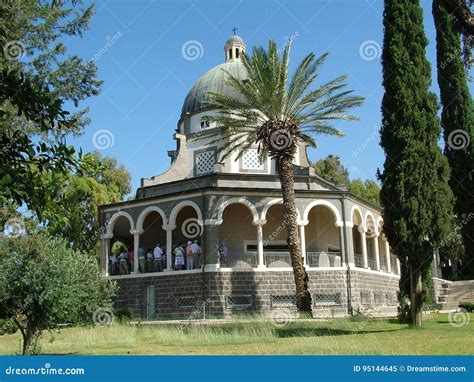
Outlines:
[[[74,327],[48,334],[44,354],[474,354],[474,313],[454,327],[447,314],[430,315],[421,329],[396,320],[269,322],[212,325]],[[0,337],[0,354],[20,349],[19,333]]]

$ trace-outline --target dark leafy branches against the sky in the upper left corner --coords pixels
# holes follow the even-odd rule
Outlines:
[[[93,6],[81,1],[4,0],[0,3],[0,202],[40,218],[55,203],[45,178],[84,169],[90,159],[68,146],[87,109],[66,102],[98,94],[95,63],[67,54],[64,38],[81,36]]]

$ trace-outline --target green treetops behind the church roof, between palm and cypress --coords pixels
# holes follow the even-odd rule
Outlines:
[[[322,178],[336,185],[346,186],[349,191],[371,203],[380,203],[379,185],[371,179],[364,181],[361,179],[350,180],[349,170],[344,167],[338,156],[328,155],[326,158],[318,160],[313,167]]]

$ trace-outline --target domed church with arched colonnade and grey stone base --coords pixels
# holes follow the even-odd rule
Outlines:
[[[225,62],[189,90],[169,169],[142,179],[134,200],[100,208],[101,266],[119,286],[116,306],[135,317],[272,315],[295,307],[275,163],[261,161],[256,146],[238,159],[221,160],[219,143],[206,138],[216,126],[202,119],[212,113],[206,108],[209,92],[235,95],[226,76],[246,77],[240,58],[245,49],[242,38],[231,36]],[[396,314],[400,264],[382,233],[380,207],[318,176],[304,142],[294,168],[314,316],[368,309]],[[116,242],[122,253],[115,253]],[[193,245],[198,251],[190,250]]]

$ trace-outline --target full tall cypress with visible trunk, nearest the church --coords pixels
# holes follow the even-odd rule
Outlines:
[[[384,231],[407,262],[412,324],[421,325],[422,278],[449,234],[453,196],[438,146],[438,104],[429,91],[428,40],[418,0],[385,0],[381,145]],[[403,278],[402,278],[403,279]]]

